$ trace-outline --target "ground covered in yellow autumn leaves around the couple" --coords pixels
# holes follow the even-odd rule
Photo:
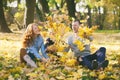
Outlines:
[[[120,80],[120,33],[93,35],[95,50],[107,48],[110,64],[104,71],[91,71],[78,64],[69,66],[51,54],[50,62],[37,62],[38,68],[30,68],[19,61],[22,33],[0,35],[0,80]]]

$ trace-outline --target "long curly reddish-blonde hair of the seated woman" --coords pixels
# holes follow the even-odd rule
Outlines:
[[[22,40],[23,48],[29,47],[33,44],[34,39],[35,39],[35,34],[33,31],[34,26],[38,26],[38,25],[36,23],[31,23],[27,26],[27,29],[23,35],[23,40]]]

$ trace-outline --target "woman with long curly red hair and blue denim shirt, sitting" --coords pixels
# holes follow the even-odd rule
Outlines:
[[[44,41],[40,35],[40,29],[36,23],[28,25],[24,33],[22,46],[23,48],[20,51],[21,62],[25,61],[31,67],[37,67],[34,62],[35,59],[43,62],[47,62],[49,59],[45,52]],[[39,54],[40,50],[42,55]]]

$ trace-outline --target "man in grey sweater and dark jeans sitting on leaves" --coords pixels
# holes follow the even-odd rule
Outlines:
[[[67,43],[69,48],[74,52],[74,56],[77,58],[77,61],[83,66],[88,67],[90,70],[97,70],[100,68],[105,68],[108,66],[109,61],[105,60],[106,56],[106,48],[101,47],[94,54],[90,53],[90,45],[85,45],[85,49],[80,51],[76,44],[74,44],[75,40],[80,40],[84,44],[84,40],[78,36],[78,29],[81,26],[79,20],[75,20],[72,22],[72,30],[73,34],[68,37]],[[92,41],[93,37],[87,37],[88,40]]]

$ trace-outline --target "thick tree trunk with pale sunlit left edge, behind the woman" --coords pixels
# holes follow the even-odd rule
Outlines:
[[[36,0],[26,0],[25,17],[24,17],[25,27],[27,27],[28,24],[34,21],[35,2]]]

